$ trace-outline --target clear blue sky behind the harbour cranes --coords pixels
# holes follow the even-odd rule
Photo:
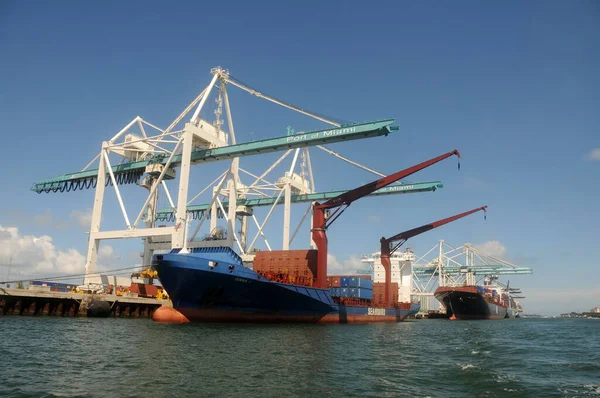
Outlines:
[[[599,22],[593,1],[4,1],[0,225],[18,228],[19,239],[52,237],[44,250],[55,262],[75,258],[69,249],[84,255],[77,212],[91,208],[93,192],[37,195],[31,184],[81,169],[137,115],[166,127],[220,65],[319,113],[395,118],[400,131],[389,137],[330,146],[379,171],[463,153],[460,172],[450,160],[411,178],[442,180],[443,190],[353,204],[329,232],[340,263],[375,251],[381,236],[487,204],[487,221],[471,216],[410,246],[497,241],[507,259],[535,270],[511,281],[527,295],[526,311],[587,310],[600,305]],[[230,95],[240,141],[321,126]],[[318,190],[372,179],[316,151]],[[260,172],[276,157],[242,167]],[[194,173],[207,183],[225,167]],[[110,224],[120,214],[107,206]],[[111,250],[107,259],[122,257],[111,264],[138,261],[139,242]]]

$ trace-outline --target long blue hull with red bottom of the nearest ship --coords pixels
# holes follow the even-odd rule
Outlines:
[[[157,256],[158,276],[177,311],[175,320],[250,323],[400,322],[418,304],[379,308],[336,304],[327,289],[277,283],[210,253]],[[211,266],[209,264],[217,264]],[[167,311],[164,311],[167,313]],[[158,321],[169,315],[157,311]],[[174,321],[175,321],[174,320]]]

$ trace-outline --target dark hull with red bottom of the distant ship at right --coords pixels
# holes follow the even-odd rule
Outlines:
[[[439,287],[434,295],[450,319],[505,319],[518,314],[515,309],[489,302],[476,286]]]

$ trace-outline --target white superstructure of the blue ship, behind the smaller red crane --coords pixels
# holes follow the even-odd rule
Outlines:
[[[410,302],[412,293],[412,264],[415,254],[411,249],[393,253],[390,257],[392,283],[398,284],[398,301]],[[361,262],[373,268],[373,282],[385,283],[385,270],[381,265],[381,252],[363,255]]]

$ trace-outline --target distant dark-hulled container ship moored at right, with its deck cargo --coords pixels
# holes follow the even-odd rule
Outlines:
[[[509,291],[491,284],[440,286],[434,295],[450,319],[518,318],[523,309]]]

